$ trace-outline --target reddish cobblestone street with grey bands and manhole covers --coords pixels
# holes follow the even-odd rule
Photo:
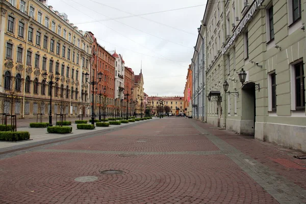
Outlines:
[[[301,154],[154,119],[0,155],[0,203],[306,203]]]

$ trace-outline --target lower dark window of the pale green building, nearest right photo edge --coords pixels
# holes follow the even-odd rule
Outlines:
[[[305,75],[303,62],[294,65],[295,71],[295,108],[305,109]]]

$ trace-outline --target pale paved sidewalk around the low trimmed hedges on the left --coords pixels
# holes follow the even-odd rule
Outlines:
[[[76,137],[82,137],[88,134],[97,134],[101,133],[104,131],[108,130],[113,130],[113,129],[118,129],[120,127],[126,126],[126,125],[132,125],[132,124],[138,124],[142,123],[145,121],[149,120],[141,120],[137,122],[129,122],[129,123],[121,123],[120,125],[110,125],[108,127],[95,127],[94,130],[78,130],[77,129],[77,124],[74,123],[75,120],[78,120],[78,118],[69,118],[71,121],[71,126],[72,126],[72,133],[69,134],[52,134],[52,133],[47,133],[46,128],[31,128],[29,127],[30,122],[36,122],[33,121],[33,119],[25,119],[24,121],[18,123],[17,120],[17,131],[28,131],[31,136],[29,141],[21,141],[21,142],[4,142],[0,141],[0,154],[3,154],[4,152],[7,151],[14,151],[17,149],[22,149],[22,148],[29,148],[37,145],[42,145],[46,143],[53,143],[53,142],[58,142],[62,140],[67,140],[71,138],[76,138]],[[84,118],[84,120],[88,120],[91,118]],[[150,120],[156,119],[155,117],[152,117]],[[21,120],[21,119],[20,119]],[[48,118],[43,119],[43,122],[48,122]],[[23,126],[23,127],[20,127]],[[55,121],[53,123],[55,125]],[[88,122],[89,124],[89,122]]]

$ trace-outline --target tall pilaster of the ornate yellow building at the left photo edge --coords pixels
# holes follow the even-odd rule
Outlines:
[[[4,66],[4,52],[5,52],[5,43],[4,43],[4,33],[6,31],[5,25],[6,25],[6,14],[7,10],[4,8],[1,8],[1,28],[0,28],[0,71],[3,72],[3,66]],[[0,93],[3,93],[3,86],[2,86],[3,77],[0,77]]]

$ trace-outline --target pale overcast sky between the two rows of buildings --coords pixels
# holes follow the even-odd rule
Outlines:
[[[79,30],[91,31],[106,50],[116,49],[135,74],[142,61],[144,92],[149,96],[184,95],[205,4],[203,0],[48,0]]]

